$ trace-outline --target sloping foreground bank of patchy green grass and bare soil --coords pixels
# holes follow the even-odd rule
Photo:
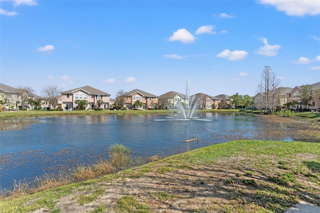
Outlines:
[[[320,205],[318,143],[238,140],[0,201],[1,212],[284,212]]]

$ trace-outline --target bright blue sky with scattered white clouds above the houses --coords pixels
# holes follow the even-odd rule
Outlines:
[[[254,95],[264,66],[281,86],[320,81],[319,0],[1,0],[0,82],[115,97]]]

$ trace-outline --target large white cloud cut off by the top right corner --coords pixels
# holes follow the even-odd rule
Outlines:
[[[320,3],[318,0],[260,0],[260,3],[275,6],[276,10],[284,11],[287,15],[320,14]]]

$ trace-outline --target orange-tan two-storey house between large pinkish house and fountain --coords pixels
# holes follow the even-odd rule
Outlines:
[[[123,107],[126,107],[127,109],[133,109],[133,104],[135,103],[136,100],[141,101],[142,109],[158,108],[158,96],[155,94],[151,94],[151,93],[142,91],[140,89],[133,89],[123,94],[123,96],[124,96]]]

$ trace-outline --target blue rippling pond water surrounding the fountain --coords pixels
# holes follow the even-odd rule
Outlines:
[[[27,128],[0,132],[0,186],[9,188],[13,179],[31,180],[43,172],[107,158],[109,145],[115,143],[147,158],[234,139],[292,140],[285,126],[262,121],[252,113],[194,116],[198,119],[180,120],[178,113],[34,118],[37,122]],[[269,134],[270,129],[283,134]],[[183,142],[197,137],[198,141]]]

